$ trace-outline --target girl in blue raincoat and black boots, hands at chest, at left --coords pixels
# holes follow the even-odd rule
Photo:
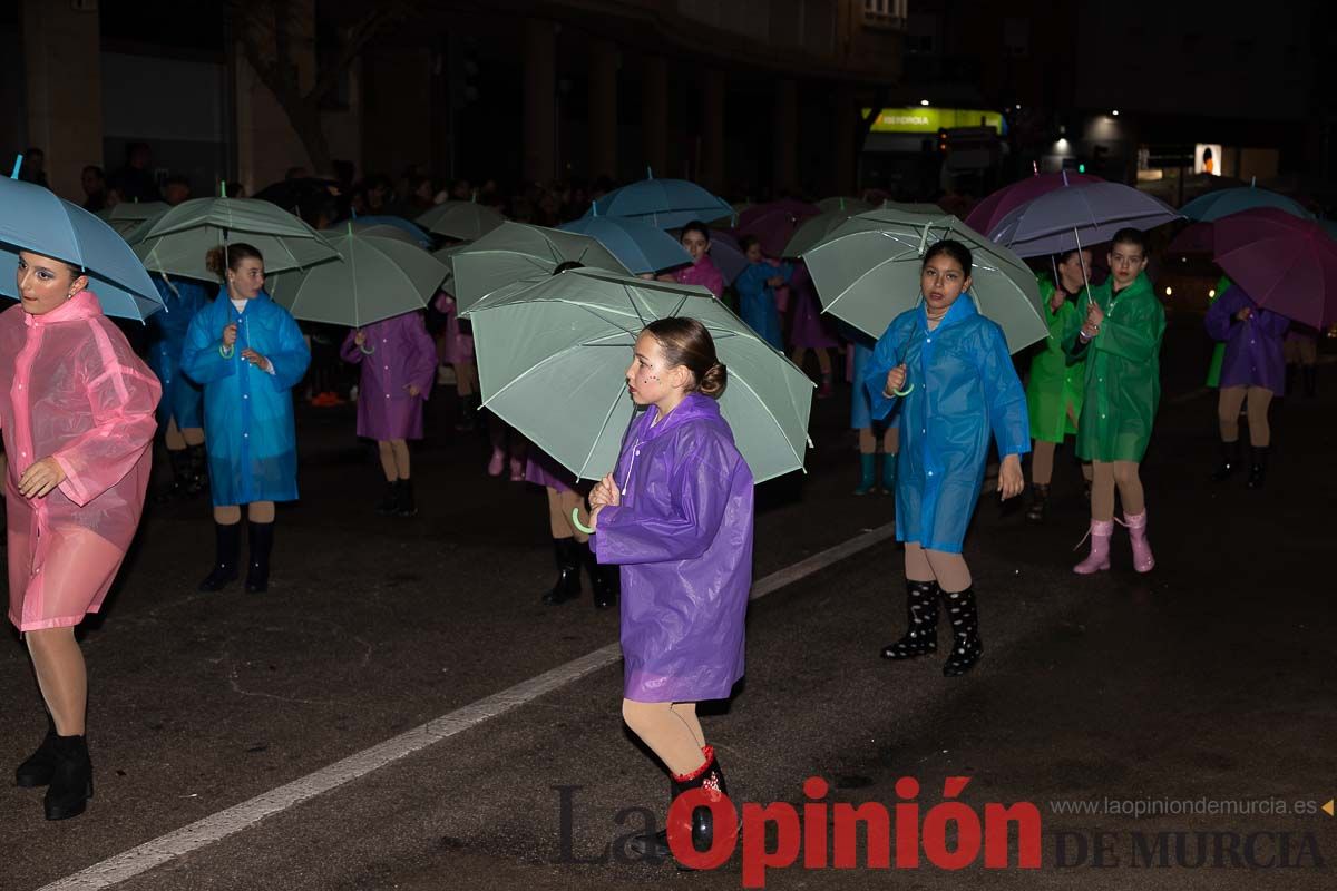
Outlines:
[[[274,502],[297,500],[297,431],[291,389],[312,355],[297,322],[265,294],[265,259],[250,244],[214,248],[225,278],[218,298],[195,314],[182,370],[205,387],[209,478],[214,498],[214,568],[201,590],[238,577],[241,505],[247,505],[246,590],[269,588]]]

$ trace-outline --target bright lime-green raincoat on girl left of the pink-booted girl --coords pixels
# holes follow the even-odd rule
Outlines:
[[[1072,418],[1082,417],[1082,398],[1086,389],[1086,362],[1068,365],[1063,337],[1070,327],[1080,327],[1075,299],[1063,302],[1058,313],[1050,309],[1054,282],[1048,275],[1038,275],[1044,321],[1050,335],[1044,349],[1031,359],[1031,374],[1025,382],[1025,405],[1031,417],[1031,438],[1042,442],[1063,442],[1063,437],[1076,433]],[[1080,297],[1080,295],[1079,295]],[[1071,417],[1070,417],[1071,415]]]

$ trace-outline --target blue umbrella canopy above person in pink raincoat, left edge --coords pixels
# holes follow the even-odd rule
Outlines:
[[[15,299],[19,251],[83,270],[107,315],[143,321],[162,309],[148,273],[114,228],[48,188],[0,179],[0,294]]]

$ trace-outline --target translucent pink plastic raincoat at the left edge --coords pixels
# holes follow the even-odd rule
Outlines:
[[[20,632],[78,625],[102,608],[139,526],[160,395],[91,291],[43,315],[0,314],[9,621]],[[19,480],[47,457],[66,481],[24,498]]]

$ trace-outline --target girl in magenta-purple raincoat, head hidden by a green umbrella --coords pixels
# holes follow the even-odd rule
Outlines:
[[[422,402],[436,378],[436,345],[422,317],[404,313],[349,331],[341,355],[362,366],[357,435],[376,439],[385,472],[385,496],[376,510],[412,517],[417,505],[408,441],[422,438]]]

